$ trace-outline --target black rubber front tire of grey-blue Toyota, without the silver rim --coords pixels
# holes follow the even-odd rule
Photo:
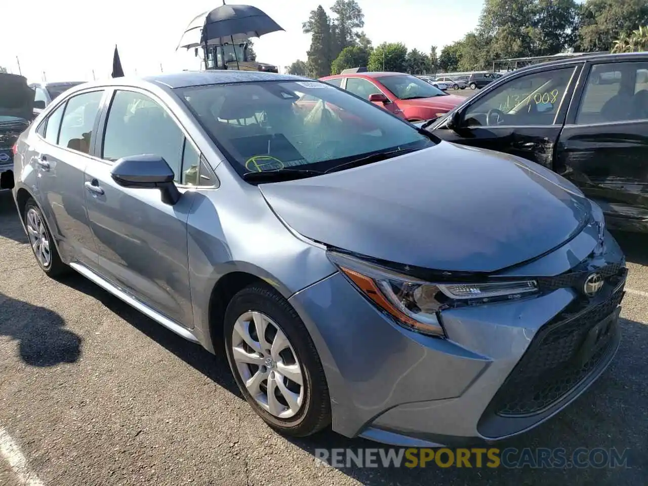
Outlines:
[[[250,395],[232,351],[232,332],[236,320],[249,311],[257,311],[271,318],[286,335],[301,363],[304,397],[299,411],[289,419],[275,417],[257,404]],[[243,396],[253,410],[273,429],[294,437],[312,435],[330,424],[330,397],[324,369],[308,330],[294,308],[281,294],[263,284],[252,284],[238,292],[225,313],[224,340],[227,361]]]

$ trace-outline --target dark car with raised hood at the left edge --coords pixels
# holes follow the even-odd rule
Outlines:
[[[14,187],[13,146],[34,117],[34,91],[23,76],[0,73],[0,189]]]

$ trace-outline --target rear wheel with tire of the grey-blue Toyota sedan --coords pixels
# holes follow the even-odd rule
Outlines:
[[[25,204],[25,227],[27,228],[27,236],[29,237],[29,244],[34,251],[36,262],[50,277],[56,277],[65,273],[69,267],[62,262],[58,255],[58,250],[54,244],[52,233],[47,227],[45,217],[32,198],[27,200]]]

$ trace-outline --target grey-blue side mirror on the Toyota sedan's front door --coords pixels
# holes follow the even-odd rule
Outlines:
[[[173,182],[173,170],[160,156],[145,154],[122,157],[115,163],[110,175],[122,187],[159,189],[165,204],[174,205],[181,196]]]

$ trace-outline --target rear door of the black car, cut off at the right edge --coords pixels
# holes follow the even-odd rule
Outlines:
[[[586,69],[555,170],[601,203],[611,226],[632,226],[648,220],[648,60]]]

